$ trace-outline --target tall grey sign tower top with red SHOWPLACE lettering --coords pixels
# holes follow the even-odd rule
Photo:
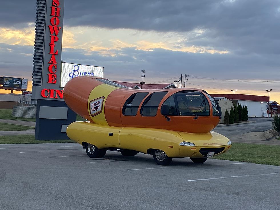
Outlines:
[[[64,0],[37,1],[33,99],[63,100],[60,87],[63,12]]]

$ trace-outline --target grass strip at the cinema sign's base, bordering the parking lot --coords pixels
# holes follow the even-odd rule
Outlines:
[[[71,140],[37,141],[34,135],[0,136],[0,144],[38,144],[38,143],[67,143]]]

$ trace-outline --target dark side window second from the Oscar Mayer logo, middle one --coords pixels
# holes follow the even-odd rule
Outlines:
[[[155,116],[159,103],[168,92],[155,92],[152,93],[143,103],[141,107],[142,116]]]

